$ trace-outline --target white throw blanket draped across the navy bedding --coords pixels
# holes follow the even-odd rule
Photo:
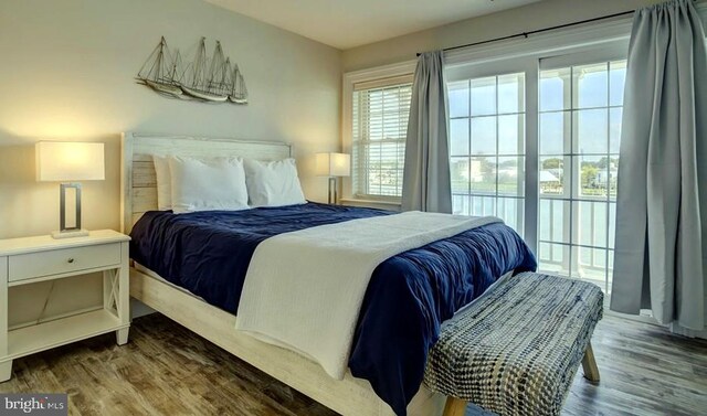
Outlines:
[[[251,259],[235,328],[308,355],[341,380],[376,267],[402,252],[495,222],[500,220],[405,212],[267,238]]]

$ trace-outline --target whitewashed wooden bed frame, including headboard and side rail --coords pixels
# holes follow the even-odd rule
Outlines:
[[[123,134],[122,230],[146,212],[157,210],[157,188],[152,156],[240,156],[258,160],[293,157],[293,147],[276,141],[243,141],[205,137]],[[292,351],[266,344],[235,330],[235,316],[213,307],[166,281],[130,267],[130,295],[168,318],[223,348],[274,378],[342,415],[389,416],[388,404],[370,384],[350,372],[334,380],[313,361]],[[445,397],[424,386],[408,406],[411,416],[441,415]]]

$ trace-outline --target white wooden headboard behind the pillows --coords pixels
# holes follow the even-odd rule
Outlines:
[[[157,210],[157,180],[152,156],[238,156],[257,160],[279,160],[294,156],[282,141],[238,140],[175,135],[123,134],[120,166],[120,228],[129,234],[147,211]]]

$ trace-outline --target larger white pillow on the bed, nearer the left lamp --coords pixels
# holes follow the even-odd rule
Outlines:
[[[168,161],[175,213],[249,207],[242,159],[169,157]]]

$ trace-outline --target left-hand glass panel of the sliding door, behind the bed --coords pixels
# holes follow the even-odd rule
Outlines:
[[[523,235],[525,73],[449,84],[454,214],[495,215]]]

